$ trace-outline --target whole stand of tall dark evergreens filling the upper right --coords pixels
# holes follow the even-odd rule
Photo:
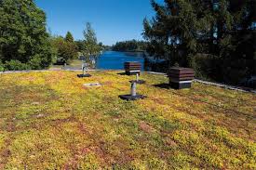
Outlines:
[[[256,1],[152,0],[152,6],[156,14],[143,21],[143,36],[156,58],[188,66],[201,56],[210,77],[229,83],[256,73]]]

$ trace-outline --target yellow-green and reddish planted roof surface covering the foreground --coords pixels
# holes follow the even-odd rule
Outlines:
[[[0,169],[255,169],[256,95],[142,73],[0,74]],[[83,84],[101,83],[100,87]]]

